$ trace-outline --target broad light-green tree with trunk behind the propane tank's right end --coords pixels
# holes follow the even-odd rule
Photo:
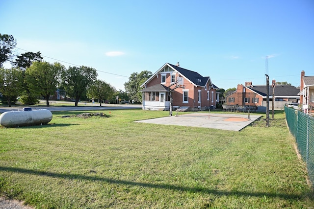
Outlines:
[[[49,107],[49,97],[54,94],[60,84],[60,75],[65,67],[55,62],[34,62],[26,69],[26,83],[29,90],[35,94],[40,94],[46,99]]]

